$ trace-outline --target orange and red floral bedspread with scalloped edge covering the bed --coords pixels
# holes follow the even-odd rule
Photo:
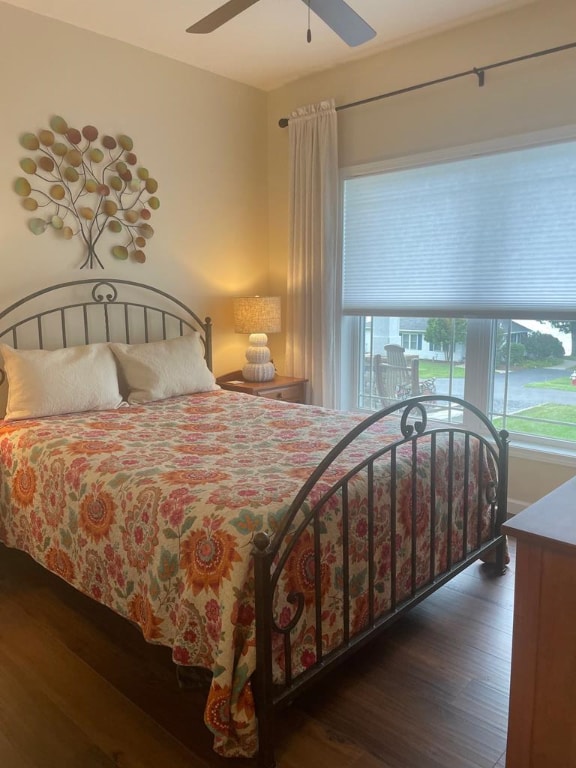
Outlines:
[[[146,640],[172,648],[176,663],[211,670],[205,722],[215,749],[253,755],[251,540],[257,531],[277,529],[310,472],[361,419],[216,391],[116,411],[0,422],[0,540],[137,623]],[[382,433],[398,431],[396,422],[378,429],[380,442]],[[402,493],[409,509],[411,487]],[[445,498],[446,488],[437,493]],[[359,498],[351,509],[363,506]],[[324,521],[336,538],[337,518],[337,510],[328,509]],[[419,525],[426,524],[422,520],[425,515]],[[357,628],[366,621],[365,525],[358,514],[350,542]],[[384,530],[382,522],[376,540],[389,552],[390,542],[379,541]],[[306,541],[286,569],[288,590],[310,589]],[[341,563],[333,541],[322,546],[328,595],[341,581]],[[441,560],[446,537],[438,536],[437,546]],[[398,570],[409,574],[411,523],[402,525],[401,516],[396,548]],[[425,575],[427,553],[420,555],[418,573]],[[377,570],[386,583],[384,560]],[[389,598],[383,587],[382,608]],[[290,621],[285,610],[280,623]],[[327,602],[334,638],[339,610],[336,598]],[[296,668],[314,660],[309,630],[304,622]]]

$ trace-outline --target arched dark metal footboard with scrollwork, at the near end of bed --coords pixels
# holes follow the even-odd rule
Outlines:
[[[462,423],[434,420],[435,414],[454,409],[462,414]],[[368,430],[385,418],[397,419],[400,437],[376,448],[371,442],[370,453],[335,478],[335,466],[346,451],[357,446]],[[424,460],[429,462],[425,487]],[[508,434],[497,432],[477,408],[451,396],[412,398],[372,414],[355,427],[311,474],[283,516],[279,530],[273,535],[260,532],[254,537],[254,690],[260,768],[275,765],[274,712],[279,707],[470,563],[492,555],[496,567],[504,570],[505,537],[501,526],[506,520],[507,465]],[[365,490],[365,495],[360,495],[360,518],[358,484]],[[338,590],[332,589],[330,598],[340,606],[339,627],[329,644],[323,625],[327,509],[332,517],[337,509],[341,574]],[[366,557],[360,589],[351,557],[353,539],[358,541],[359,519]],[[411,530],[408,555],[397,551],[399,526]],[[439,538],[444,537],[445,541],[440,542]],[[289,589],[284,583],[287,570],[293,568],[291,558],[298,548],[302,549],[304,541],[308,550],[302,567],[307,571],[308,583],[306,589]],[[426,557],[422,556],[422,548]],[[311,629],[307,635],[307,663],[302,667],[294,664],[293,656],[295,638],[304,621]]]

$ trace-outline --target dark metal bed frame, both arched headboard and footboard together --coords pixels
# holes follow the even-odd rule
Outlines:
[[[65,296],[65,300],[59,297]],[[72,298],[70,298],[72,297]],[[54,306],[54,303],[56,306]],[[31,311],[32,310],[32,311]],[[61,283],[26,296],[0,313],[0,341],[18,348],[60,348],[75,344],[89,344],[97,341],[124,341],[134,343],[152,341],[182,335],[188,330],[200,333],[204,343],[206,360],[212,365],[211,321],[202,321],[185,304],[173,296],[157,288],[135,283],[128,280],[99,280],[87,279]],[[0,369],[0,384],[4,378]],[[443,412],[449,414],[450,423],[433,421],[434,414]],[[318,483],[324,482],[334,462],[356,440],[361,440],[363,433],[387,416],[398,418],[402,437],[395,442],[383,445],[375,453],[367,456],[356,467],[336,482],[331,480],[323,491],[319,501],[309,503],[310,494]],[[454,418],[456,417],[456,419]],[[437,416],[437,419],[439,417]],[[457,436],[460,436],[457,438]],[[411,469],[412,484],[412,525],[416,525],[417,517],[417,450],[418,444],[426,440],[430,443],[432,465],[436,456],[439,440],[447,441],[448,461],[452,466],[455,441],[464,442],[465,477],[464,487],[472,479],[467,473],[469,458],[476,451],[480,457],[477,462],[490,461],[496,468],[497,479],[485,483],[480,477],[476,478],[483,488],[483,495],[490,507],[491,535],[488,540],[481,541],[480,525],[477,531],[469,530],[472,517],[476,511],[480,519],[479,509],[455,509],[452,504],[451,480],[449,481],[448,527],[451,529],[456,516],[461,516],[463,540],[469,538],[475,541],[474,546],[464,544],[464,556],[455,555],[448,537],[447,567],[440,573],[435,562],[435,471],[432,472],[430,488],[430,564],[429,578],[423,586],[417,586],[415,563],[415,537],[412,537],[412,573],[411,590],[407,598],[398,597],[399,589],[396,578],[396,553],[391,553],[391,605],[384,615],[375,615],[375,583],[374,550],[376,546],[373,522],[375,518],[375,499],[373,493],[368,495],[367,517],[369,521],[368,539],[368,625],[362,631],[354,634],[351,618],[347,609],[349,593],[349,507],[348,492],[354,479],[363,474],[368,479],[368,487],[378,471],[378,463],[386,457],[390,461],[392,480],[390,484],[390,502],[395,505],[397,484],[396,467],[400,462],[399,451],[404,446],[411,449],[413,457]],[[404,451],[406,448],[404,448]],[[498,573],[505,570],[506,540],[502,533],[502,525],[506,521],[507,497],[507,464],[508,464],[508,434],[497,432],[490,421],[474,406],[464,400],[451,396],[427,395],[415,397],[397,403],[385,410],[373,413],[354,428],[330,453],[312,473],[302,486],[286,515],[281,528],[274,535],[260,532],[254,536],[253,557],[255,574],[255,620],[256,620],[256,651],[257,667],[253,680],[253,690],[258,716],[259,753],[257,764],[259,768],[273,768],[276,712],[301,695],[319,677],[327,674],[334,667],[345,661],[352,653],[363,647],[386,627],[399,619],[404,613],[418,604],[447,581],[452,579],[474,561],[482,558],[491,560]],[[452,474],[452,473],[450,473]],[[320,553],[320,514],[323,506],[334,497],[340,502],[342,517],[343,539],[343,633],[338,647],[329,654],[324,654],[322,647],[321,620],[321,553]],[[478,507],[482,500],[479,498]],[[395,538],[395,517],[391,515],[390,540]],[[302,593],[292,593],[288,596],[294,607],[290,623],[279,626],[275,616],[274,595],[278,589],[290,554],[305,531],[313,535],[314,556],[314,610],[316,612],[316,659],[305,672],[293,673],[290,663],[291,630],[297,625],[304,610]],[[275,681],[273,676],[273,642],[280,635],[284,658],[284,679],[282,683]],[[277,645],[277,643],[276,643]]]

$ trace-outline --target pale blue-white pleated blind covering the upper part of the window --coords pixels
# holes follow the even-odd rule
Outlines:
[[[346,179],[347,315],[576,319],[576,142]]]

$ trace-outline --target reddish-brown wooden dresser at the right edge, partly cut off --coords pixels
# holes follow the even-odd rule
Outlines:
[[[576,478],[516,515],[506,768],[576,768]]]

